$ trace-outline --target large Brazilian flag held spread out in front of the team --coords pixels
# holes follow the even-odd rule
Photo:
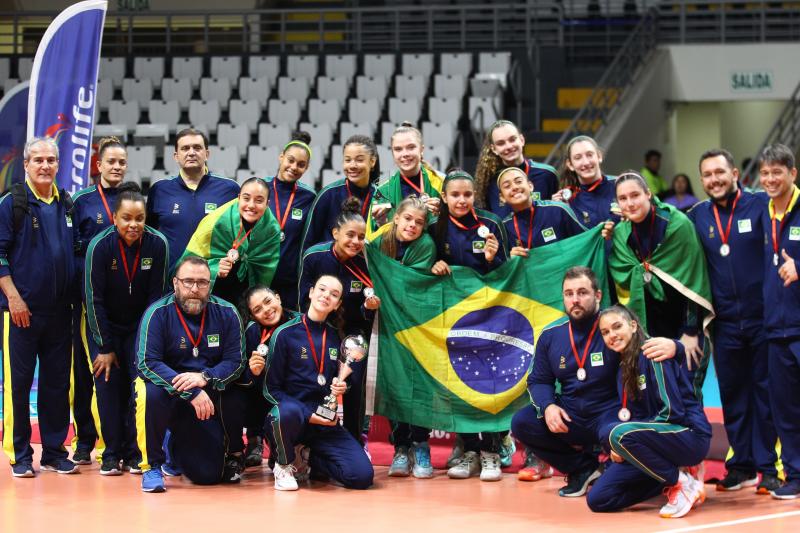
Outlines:
[[[527,400],[526,381],[542,329],[564,316],[561,282],[574,265],[605,287],[600,229],[513,257],[485,276],[451,267],[434,276],[367,247],[381,298],[374,411],[423,427],[504,431]],[[377,362],[375,361],[377,354]]]

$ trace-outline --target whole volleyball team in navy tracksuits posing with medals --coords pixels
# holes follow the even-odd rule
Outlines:
[[[369,338],[381,307],[365,246],[433,276],[453,266],[485,274],[597,231],[606,272],[576,265],[558,280],[566,316],[536,339],[530,405],[510,434],[459,434],[447,475],[500,480],[518,442],[520,480],[556,469],[566,476],[559,494],[586,495],[597,512],[663,492],[660,515],[684,516],[706,498],[711,426],[700,389],[711,354],[731,445],[716,490],[798,497],[800,190],[787,147],[760,154],[758,193],[738,183],[726,150],[703,153],[709,199],[684,214],[641,173],[605,174],[590,137],[569,142],[558,171],[526,159],[506,120],[487,132],[474,175],[432,169],[420,131],[403,124],[387,180],[378,183],[375,142],[355,135],[343,145],[344,179],[315,193],[299,181],[309,145],[294,134],[274,177],[239,186],[208,171],[208,139],[185,129],[179,175],[145,199],[125,181],[119,139],[100,141],[97,183],[72,197],[55,185],[54,141],[26,144],[25,181],[0,200],[13,476],[36,474],[38,361],[42,471],[76,473],[96,451],[101,475],[142,474],[142,490],[164,492],[172,476],[237,483],[268,449],[275,489],[308,479],[366,489],[367,362],[349,361],[352,374],[337,377],[342,340]],[[338,417],[320,410],[331,396]],[[390,422],[388,475],[433,477],[432,428]]]

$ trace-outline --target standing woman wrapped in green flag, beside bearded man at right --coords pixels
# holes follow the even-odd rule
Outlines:
[[[708,325],[714,318],[706,261],[686,215],[661,203],[636,172],[617,177],[625,217],[614,229],[609,257],[617,294],[653,337],[680,339],[699,394],[708,366]],[[704,354],[705,351],[705,354]]]

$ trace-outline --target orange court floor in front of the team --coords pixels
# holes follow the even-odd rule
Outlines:
[[[273,490],[265,466],[247,470],[240,485],[200,487],[170,478],[166,493],[145,494],[141,476],[103,477],[98,470],[94,464],[78,475],[15,479],[4,464],[0,532],[800,531],[800,500],[777,501],[750,490],[723,494],[712,486],[703,506],[668,520],[658,516],[661,498],[621,513],[591,513],[583,498],[557,496],[560,478],[523,483],[506,474],[488,483],[450,480],[437,470],[430,480],[390,479],[387,467],[378,466],[367,491],[313,483],[287,493]]]

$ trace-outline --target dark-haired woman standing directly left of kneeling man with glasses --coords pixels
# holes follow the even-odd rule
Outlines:
[[[144,226],[144,198],[128,200],[121,193],[121,209],[141,210],[139,237],[129,244],[117,227],[92,239],[86,252],[84,292],[87,313],[86,342],[94,363],[100,354],[115,354],[115,365],[95,376],[100,434],[105,443],[100,473],[119,473],[119,463],[138,466],[132,385],[136,377],[134,343],[144,310],[159,299],[167,278],[167,241]],[[137,205],[139,204],[139,205]],[[119,215],[120,210],[116,213]],[[124,254],[124,256],[123,256]],[[124,257],[124,260],[123,260]]]

